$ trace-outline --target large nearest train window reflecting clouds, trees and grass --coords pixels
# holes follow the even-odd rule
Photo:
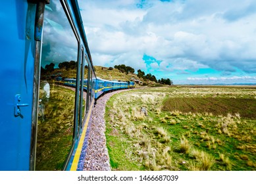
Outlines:
[[[76,34],[61,3],[51,1],[41,50],[36,170],[62,170],[72,149],[77,60]],[[56,78],[63,82],[55,83]]]

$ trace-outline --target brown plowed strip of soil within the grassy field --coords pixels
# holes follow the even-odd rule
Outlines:
[[[180,112],[211,112],[215,115],[239,113],[242,118],[256,119],[256,99],[168,98],[163,110]]]

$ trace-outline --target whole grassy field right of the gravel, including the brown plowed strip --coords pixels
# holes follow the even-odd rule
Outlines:
[[[255,89],[165,87],[116,94],[105,114],[111,167],[256,170],[254,112]]]

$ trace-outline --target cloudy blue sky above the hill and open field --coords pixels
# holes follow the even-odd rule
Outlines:
[[[256,83],[255,0],[79,0],[95,66],[174,84]]]

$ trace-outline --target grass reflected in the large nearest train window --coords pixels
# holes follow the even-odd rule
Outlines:
[[[43,101],[44,113],[39,112],[36,170],[63,168],[72,146],[74,97],[74,91],[51,85],[49,101]]]

